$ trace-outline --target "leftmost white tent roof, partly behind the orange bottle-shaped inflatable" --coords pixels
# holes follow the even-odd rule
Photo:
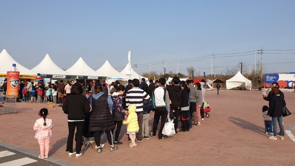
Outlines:
[[[36,72],[31,71],[21,64],[19,64],[17,61],[15,61],[9,53],[6,51],[4,48],[3,51],[0,53],[0,59],[1,59],[1,67],[0,67],[0,73],[1,74],[6,74],[7,71],[9,70],[9,67],[12,67],[12,64],[16,64],[16,67],[19,71],[19,74],[34,74],[37,75]]]

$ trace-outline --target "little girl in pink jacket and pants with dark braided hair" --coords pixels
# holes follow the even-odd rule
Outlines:
[[[38,139],[40,146],[40,155],[38,156],[40,159],[48,158],[49,142],[50,137],[52,136],[52,120],[48,119],[47,115],[48,110],[42,108],[39,113],[41,118],[37,119],[34,125],[34,130],[36,131],[35,139]]]

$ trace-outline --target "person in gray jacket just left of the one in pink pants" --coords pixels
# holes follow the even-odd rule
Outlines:
[[[189,89],[191,89],[191,95],[189,96],[189,103],[190,103],[190,113],[191,113],[191,117],[194,114],[194,124],[193,126],[198,126],[197,123],[197,115],[196,115],[196,99],[198,97],[198,90],[196,87],[194,87],[194,81],[191,80],[189,82]]]

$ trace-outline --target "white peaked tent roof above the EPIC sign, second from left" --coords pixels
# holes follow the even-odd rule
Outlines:
[[[50,70],[48,70],[50,69]],[[55,75],[73,75],[60,69],[50,58],[48,53],[44,57],[44,59],[38,64],[36,67],[31,69],[32,71],[40,74],[55,74]]]

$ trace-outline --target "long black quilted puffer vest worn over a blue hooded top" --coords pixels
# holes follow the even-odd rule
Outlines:
[[[101,95],[98,100],[91,97],[92,111],[89,121],[89,132],[110,131],[115,123],[108,106],[108,95]]]

